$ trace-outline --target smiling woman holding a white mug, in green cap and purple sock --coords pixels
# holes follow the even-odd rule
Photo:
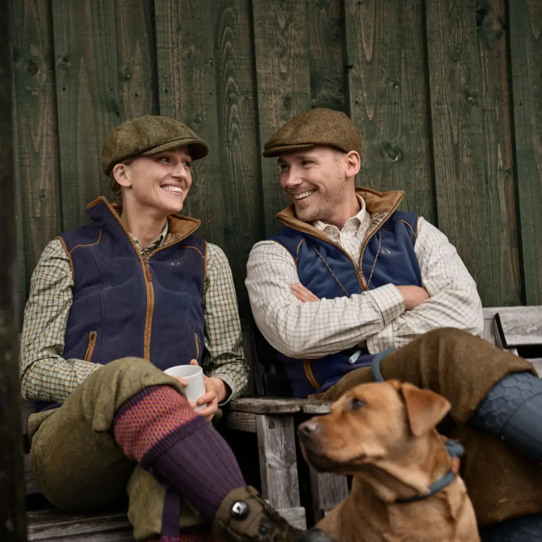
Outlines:
[[[66,510],[127,491],[137,540],[178,539],[179,517],[182,527],[214,520],[219,539],[309,540],[246,486],[208,423],[248,375],[227,259],[195,235],[198,220],[175,214],[192,160],[208,152],[176,120],[124,122],[102,153],[120,207],[96,199],[91,225],[44,249],[21,338],[22,394],[43,409],[28,422],[32,468]],[[206,375],[198,414],[186,382],[163,372],[188,363]]]

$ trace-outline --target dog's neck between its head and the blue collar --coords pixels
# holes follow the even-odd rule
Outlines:
[[[454,461],[445,441],[436,430],[431,430],[417,439],[407,455],[364,464],[354,475],[353,483],[368,486],[386,504],[427,495],[429,486],[453,469]]]

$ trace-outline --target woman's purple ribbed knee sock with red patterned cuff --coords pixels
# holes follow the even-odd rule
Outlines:
[[[212,519],[225,496],[245,486],[226,441],[170,386],[141,391],[115,413],[124,453]]]

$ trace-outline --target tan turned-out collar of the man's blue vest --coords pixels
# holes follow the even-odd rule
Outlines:
[[[363,186],[356,186],[356,195],[363,198],[365,208],[371,216],[373,227],[371,228],[371,231],[367,233],[367,237],[369,237],[380,227],[380,225],[382,225],[386,218],[399,207],[399,203],[401,203],[405,193],[403,190],[378,192],[370,188],[364,188]],[[295,230],[318,237],[324,241],[329,241],[329,237],[324,232],[315,228],[312,224],[295,217],[293,204],[288,205],[286,209],[278,212],[276,218]]]

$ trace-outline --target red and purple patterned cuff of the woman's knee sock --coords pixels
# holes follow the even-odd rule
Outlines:
[[[158,443],[167,446],[165,440],[172,440],[172,435],[180,440],[205,423],[173,388],[151,386],[116,412],[113,434],[126,456],[140,462]]]

